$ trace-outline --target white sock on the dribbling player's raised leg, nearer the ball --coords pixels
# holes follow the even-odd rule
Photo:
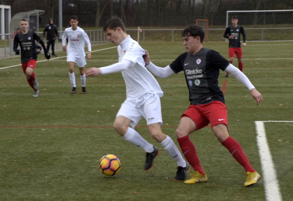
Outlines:
[[[144,149],[145,152],[151,153],[155,150],[154,146],[143,139],[142,136],[140,136],[140,134],[133,128],[128,127],[127,132],[124,134],[123,138],[137,147]]]

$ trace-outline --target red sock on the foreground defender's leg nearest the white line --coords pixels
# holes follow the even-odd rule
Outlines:
[[[246,172],[255,172],[255,170],[251,167],[247,157],[245,156],[240,144],[235,139],[229,136],[222,143],[222,145],[229,150],[230,154],[240,165],[243,166]]]

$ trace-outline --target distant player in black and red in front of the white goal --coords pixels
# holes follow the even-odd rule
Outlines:
[[[234,56],[238,59],[238,68],[243,72],[243,63],[242,63],[242,49],[246,45],[246,35],[242,26],[238,25],[237,16],[232,17],[232,25],[226,28],[224,33],[225,38],[229,38],[229,62],[232,64],[234,61]],[[243,43],[240,46],[240,33],[243,35]],[[225,77],[228,77],[229,73],[226,72]]]

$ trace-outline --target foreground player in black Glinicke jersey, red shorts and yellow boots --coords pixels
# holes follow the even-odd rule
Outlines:
[[[189,90],[190,106],[182,115],[176,130],[177,141],[183,155],[193,167],[195,173],[184,183],[206,182],[207,174],[202,170],[196,155],[195,147],[189,135],[209,123],[217,139],[246,171],[244,186],[255,184],[260,175],[251,167],[239,143],[229,136],[227,110],[224,95],[218,86],[219,69],[227,71],[244,84],[256,100],[262,101],[262,95],[255,89],[249,79],[236,67],[230,64],[219,52],[202,47],[205,33],[197,25],[187,27],[182,32],[186,52],[165,68],[152,64],[146,51],[144,62],[156,76],[166,78],[174,73],[184,71]]]

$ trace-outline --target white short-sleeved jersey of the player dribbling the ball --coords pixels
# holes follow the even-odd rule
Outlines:
[[[154,76],[145,67],[145,50],[128,35],[117,47],[119,62],[123,59],[132,61],[132,66],[121,71],[126,85],[126,99],[137,100],[147,93],[163,96],[161,87]]]

